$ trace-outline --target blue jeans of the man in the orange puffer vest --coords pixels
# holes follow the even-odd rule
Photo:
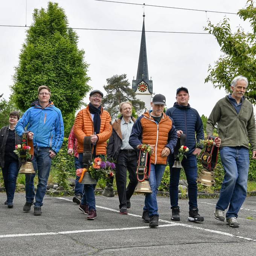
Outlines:
[[[148,215],[159,215],[157,213],[157,191],[160,183],[162,181],[163,173],[165,171],[165,165],[150,165],[150,175],[148,178],[150,188],[152,190],[151,194],[146,194],[145,196],[145,206],[143,211],[148,211]]]

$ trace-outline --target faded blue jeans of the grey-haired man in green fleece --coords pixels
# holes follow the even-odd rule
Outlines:
[[[226,218],[237,218],[247,196],[249,150],[239,146],[223,147],[219,149],[219,153],[225,174],[216,209],[224,211],[229,206]]]

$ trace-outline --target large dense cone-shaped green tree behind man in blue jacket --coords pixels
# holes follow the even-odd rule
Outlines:
[[[90,90],[88,64],[84,50],[78,50],[77,44],[78,36],[68,27],[64,10],[57,3],[49,2],[46,10],[34,10],[11,87],[21,110],[25,111],[37,99],[38,86],[47,85],[51,100],[64,119],[69,119],[70,113],[75,115]]]

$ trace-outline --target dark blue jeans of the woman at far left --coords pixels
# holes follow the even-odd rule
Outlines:
[[[19,162],[18,161],[6,161],[5,166],[2,168],[3,181],[5,183],[5,191],[7,195],[7,202],[12,203],[16,188],[16,180],[19,172]]]

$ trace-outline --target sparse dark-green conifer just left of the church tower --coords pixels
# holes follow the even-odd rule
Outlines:
[[[131,89],[131,84],[126,79],[126,74],[114,75],[108,78],[107,85],[103,87],[107,92],[107,96],[102,100],[102,105],[110,113],[112,119],[118,116],[119,104],[123,101],[130,101],[136,112],[144,107],[144,102],[137,99],[134,91]]]

